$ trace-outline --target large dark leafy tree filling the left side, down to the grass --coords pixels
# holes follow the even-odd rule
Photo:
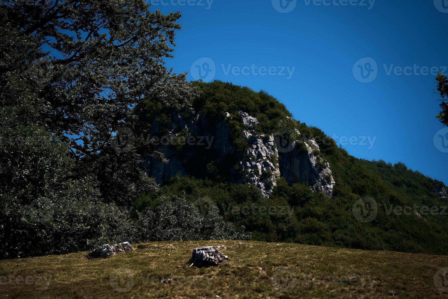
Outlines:
[[[132,232],[117,205],[156,188],[143,153],[161,158],[132,108],[196,94],[164,62],[179,17],[143,0],[1,1],[0,258]]]

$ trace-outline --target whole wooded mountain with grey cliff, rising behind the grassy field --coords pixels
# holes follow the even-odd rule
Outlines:
[[[219,81],[194,84],[201,91],[201,96],[193,102],[194,113],[162,111],[157,101],[153,100],[147,100],[135,111],[143,121],[155,119],[153,127],[157,130],[153,133],[159,137],[165,134],[171,136],[170,140],[185,140],[191,132],[198,133],[191,130],[195,125],[190,124],[199,119],[207,123],[207,126],[201,127],[202,133],[210,130],[207,136],[217,137],[219,134],[216,132],[225,129],[228,140],[222,142],[217,138],[208,149],[207,145],[185,143],[162,147],[161,151],[168,153],[168,167],[171,167],[170,163],[177,166],[160,181],[163,187],[159,191],[142,195],[136,200],[139,209],[154,208],[164,198],[185,193],[185,197],[196,204],[204,216],[207,216],[207,207],[216,205],[225,220],[237,226],[244,225],[255,240],[448,254],[445,246],[448,242],[448,222],[441,213],[446,199],[432,192],[440,182],[430,178],[422,180],[407,169],[401,174],[393,171],[395,167],[385,168],[383,172],[375,170],[374,163],[349,156],[318,128],[293,120],[283,104],[263,91],[254,92],[247,87]],[[285,128],[287,132],[298,131],[299,140],[312,139],[318,149],[308,152],[307,156],[321,159],[324,163],[322,169],[329,165],[332,177],[327,176],[327,182],[333,179],[335,182],[332,198],[317,192],[319,190],[313,187],[313,183],[318,181],[310,180],[310,173],[303,175],[300,167],[297,168],[298,172],[293,173],[297,174],[296,181],[291,180],[289,175],[278,177],[272,172],[261,171],[260,179],[263,176],[267,181],[275,178],[275,184],[269,186],[268,197],[257,184],[248,184],[250,177],[244,172],[246,169],[240,167],[241,161],[251,160],[248,155],[251,143],[244,138],[248,131],[245,115],[256,118],[250,128],[252,133],[256,131],[265,138],[274,136],[280,140],[280,145],[297,140],[297,136],[283,134]],[[221,128],[223,121],[224,129]],[[219,151],[209,150],[216,144],[225,155],[220,156],[216,154]],[[293,150],[300,152],[300,144],[303,145],[295,143]],[[277,149],[281,152],[282,148],[278,145]],[[267,164],[281,165],[280,153],[279,159],[267,159],[271,160]],[[294,159],[299,165],[307,161],[303,157]],[[284,164],[289,165],[289,160]],[[150,161],[148,173],[154,174],[151,165]],[[319,166],[316,164],[317,169]],[[309,171],[309,168],[303,169]],[[176,173],[181,176],[176,176]],[[241,175],[249,179],[235,179]],[[399,181],[401,175],[409,176],[407,184],[401,187],[391,184]],[[424,195],[413,193],[409,196],[415,186],[424,191]],[[310,187],[315,191],[311,191]],[[416,202],[437,204],[439,214],[414,213]],[[376,206],[376,211],[372,204]],[[397,206],[406,212],[390,210]],[[364,213],[356,214],[360,207]],[[373,217],[369,219],[369,216]]]

